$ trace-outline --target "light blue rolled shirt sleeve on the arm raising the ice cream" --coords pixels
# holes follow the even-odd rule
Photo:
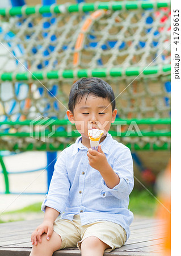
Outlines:
[[[101,194],[106,196],[106,192],[110,192],[117,199],[125,199],[131,193],[134,186],[133,178],[133,159],[129,148],[125,148],[123,152],[118,152],[112,156],[113,171],[120,177],[120,182],[113,188],[108,188],[105,181],[102,179]]]

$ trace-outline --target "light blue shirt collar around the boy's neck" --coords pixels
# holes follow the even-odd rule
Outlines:
[[[88,148],[81,143],[81,139],[82,139],[82,136],[76,139],[75,147],[72,155],[77,154],[78,150],[88,150]],[[104,141],[100,143],[104,154],[108,154],[108,152],[110,151],[109,148],[110,148],[111,142],[112,142],[112,136],[111,134],[107,133],[106,139],[104,139]]]

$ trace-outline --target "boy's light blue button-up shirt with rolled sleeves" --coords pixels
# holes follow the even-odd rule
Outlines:
[[[100,172],[92,168],[87,158],[82,137],[65,148],[54,165],[48,195],[42,204],[56,209],[61,218],[73,220],[81,217],[81,224],[106,220],[120,224],[129,237],[133,213],[128,210],[129,194],[133,189],[133,161],[131,151],[115,141],[111,134],[102,143],[108,163],[120,177],[120,183],[108,188]]]

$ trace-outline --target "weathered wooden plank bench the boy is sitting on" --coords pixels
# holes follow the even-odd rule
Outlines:
[[[41,219],[35,221],[17,221],[0,224],[0,256],[28,256],[31,251],[31,233]],[[163,252],[164,226],[161,220],[153,218],[135,218],[131,225],[131,236],[120,249],[107,256],[160,256]],[[81,255],[77,248],[56,251],[53,256]]]

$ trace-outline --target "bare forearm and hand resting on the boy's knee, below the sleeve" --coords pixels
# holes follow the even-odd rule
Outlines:
[[[41,235],[43,233],[47,233],[47,240],[50,239],[53,233],[53,223],[59,214],[60,212],[57,212],[57,210],[46,207],[43,223],[40,224],[31,235],[32,245],[37,245],[37,242],[41,243]]]

